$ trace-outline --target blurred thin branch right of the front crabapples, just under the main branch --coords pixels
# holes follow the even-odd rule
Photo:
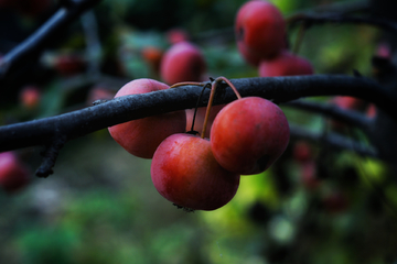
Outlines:
[[[367,130],[372,124],[372,120],[366,118],[364,114],[354,110],[345,110],[331,103],[294,100],[287,102],[286,106],[320,113],[363,130]]]

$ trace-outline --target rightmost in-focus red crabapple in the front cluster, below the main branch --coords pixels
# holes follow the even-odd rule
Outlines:
[[[218,112],[210,139],[214,156],[224,168],[242,175],[258,174],[285,152],[289,124],[275,103],[246,97]]]

